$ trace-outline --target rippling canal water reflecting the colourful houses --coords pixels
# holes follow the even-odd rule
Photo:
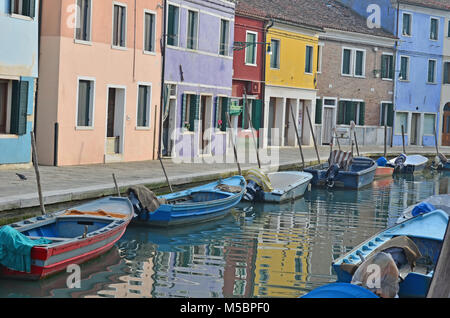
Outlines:
[[[282,297],[336,280],[333,259],[450,191],[450,173],[375,181],[359,191],[312,189],[283,205],[241,203],[225,219],[171,230],[130,226],[107,254],[41,282],[0,280],[0,297]]]

